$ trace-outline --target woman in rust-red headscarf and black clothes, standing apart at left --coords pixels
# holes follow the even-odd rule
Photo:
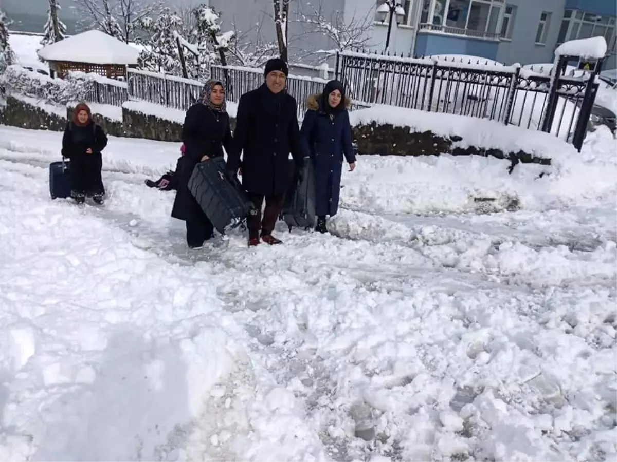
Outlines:
[[[90,108],[86,103],[79,103],[62,137],[62,156],[71,160],[71,197],[78,204],[83,204],[86,197],[99,205],[103,203],[101,152],[106,146],[107,136],[92,120]]]

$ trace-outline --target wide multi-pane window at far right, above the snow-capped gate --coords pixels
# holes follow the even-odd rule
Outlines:
[[[607,41],[608,49],[612,52],[617,52],[616,26],[617,18],[615,17],[565,10],[557,37],[557,44],[569,40],[602,36]]]

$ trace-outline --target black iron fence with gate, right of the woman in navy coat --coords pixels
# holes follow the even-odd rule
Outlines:
[[[354,52],[338,54],[336,69],[360,102],[487,118],[550,132],[579,149],[598,88],[596,71],[578,77],[558,71],[553,79],[497,63]]]

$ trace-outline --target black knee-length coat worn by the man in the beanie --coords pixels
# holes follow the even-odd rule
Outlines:
[[[272,107],[273,105],[273,107]],[[242,95],[238,103],[234,149],[227,167],[242,167],[242,186],[252,194],[286,193],[291,183],[289,153],[302,165],[296,99],[273,95],[263,84]],[[240,155],[242,153],[242,161]]]

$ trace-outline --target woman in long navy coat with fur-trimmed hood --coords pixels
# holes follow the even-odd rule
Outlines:
[[[326,216],[334,216],[339,208],[343,160],[349,163],[350,171],[355,169],[349,104],[343,84],[328,82],[322,94],[307,99],[309,110],[300,129],[305,152],[315,166],[315,230],[321,233],[326,232]]]

